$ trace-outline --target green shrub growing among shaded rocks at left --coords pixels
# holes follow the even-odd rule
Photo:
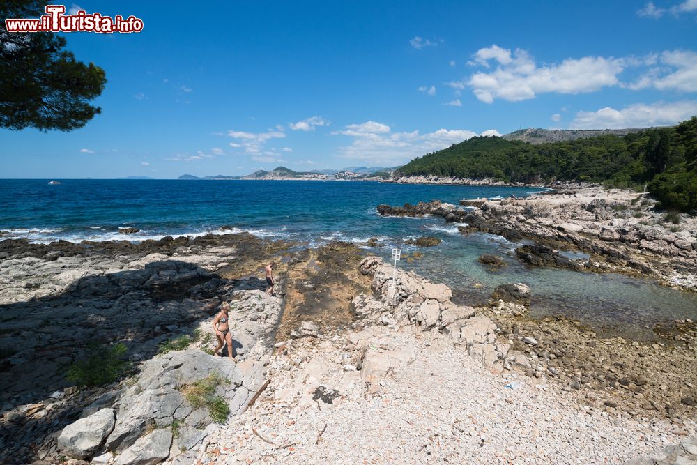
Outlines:
[[[113,383],[130,367],[125,360],[128,351],[124,344],[90,344],[86,358],[77,360],[68,367],[66,379],[80,387],[93,388]]]

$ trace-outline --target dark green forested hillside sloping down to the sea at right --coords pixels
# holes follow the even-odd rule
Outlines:
[[[395,173],[422,175],[523,183],[595,181],[626,188],[648,183],[666,208],[697,211],[697,117],[623,137],[550,144],[473,137],[415,158]]]

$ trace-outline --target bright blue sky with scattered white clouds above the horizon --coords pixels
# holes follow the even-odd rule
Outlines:
[[[697,114],[697,0],[66,7],[144,30],[68,34],[106,71],[102,114],[0,130],[2,178],[395,166],[473,135]]]

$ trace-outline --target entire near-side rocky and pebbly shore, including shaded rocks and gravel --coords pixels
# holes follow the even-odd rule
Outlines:
[[[434,214],[434,205],[418,208]],[[275,296],[263,292],[268,261]],[[619,463],[694,431],[694,323],[683,322],[681,340],[667,333],[653,346],[604,340],[576,321],[527,319],[529,292],[511,284],[491,305],[457,305],[445,285],[415,273],[392,282],[390,266],[346,243],[302,249],[249,234],[2,241],[0,461],[353,463],[390,450],[408,463],[475,453],[480,463],[496,454]],[[224,300],[235,360],[210,355],[210,321]],[[123,344],[121,379],[68,381],[95,344]],[[423,416],[434,402],[463,414]],[[378,430],[361,429],[361,418]],[[404,418],[411,423],[383,431]],[[565,431],[581,420],[582,441],[568,449]],[[511,436],[530,422],[554,430],[546,450],[535,436]],[[346,435],[354,448],[342,446]]]

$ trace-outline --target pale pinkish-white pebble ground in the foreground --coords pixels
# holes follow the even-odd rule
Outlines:
[[[612,416],[590,406],[583,390],[520,372],[495,376],[436,332],[372,330],[415,348],[411,360],[388,369],[379,392],[365,392],[360,381],[346,388],[344,337],[295,341],[269,366],[272,381],[259,401],[201,445],[199,463],[618,464],[694,434],[694,422]],[[342,397],[313,400],[319,382]],[[298,395],[289,386],[299,386]]]

